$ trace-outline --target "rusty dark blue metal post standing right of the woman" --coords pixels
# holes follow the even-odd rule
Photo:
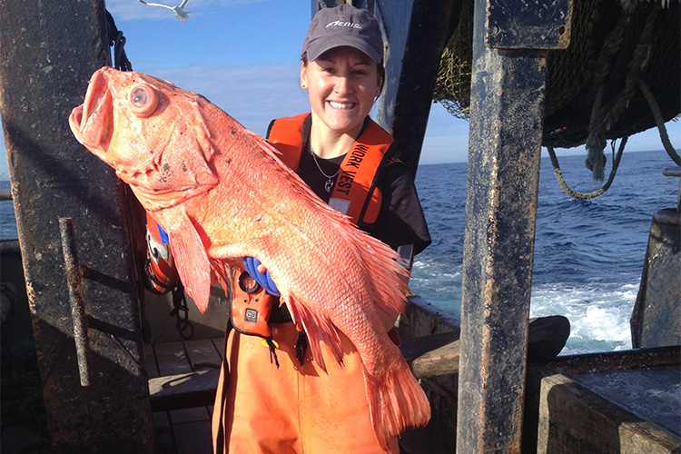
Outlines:
[[[547,49],[570,0],[476,0],[457,452],[519,452]]]

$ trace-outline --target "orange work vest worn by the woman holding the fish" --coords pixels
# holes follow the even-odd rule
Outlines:
[[[275,120],[268,136],[268,142],[281,152],[281,162],[294,171],[298,170],[301,162],[305,140],[302,135],[303,124],[309,115]],[[329,205],[347,215],[356,225],[371,224],[378,218],[382,196],[376,180],[380,169],[388,161],[386,152],[392,142],[392,136],[369,119],[369,124],[341,163]],[[232,326],[237,331],[261,336],[269,342],[270,311],[273,304],[279,304],[279,299],[257,284],[255,288],[250,287],[250,283],[244,285],[244,282],[251,281],[245,271],[236,271],[232,278]]]

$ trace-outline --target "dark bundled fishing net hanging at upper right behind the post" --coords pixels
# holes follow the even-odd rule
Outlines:
[[[607,140],[656,125],[663,134],[664,123],[681,111],[680,4],[574,2],[568,49],[548,53],[542,145],[586,144],[594,177],[602,180]],[[463,0],[433,92],[433,100],[458,118],[470,113],[473,9],[473,0]],[[673,147],[665,148],[681,165]]]

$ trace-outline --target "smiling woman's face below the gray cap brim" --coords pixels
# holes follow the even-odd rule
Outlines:
[[[356,139],[380,94],[378,64],[353,47],[336,47],[301,66],[301,85],[310,95],[312,122]]]

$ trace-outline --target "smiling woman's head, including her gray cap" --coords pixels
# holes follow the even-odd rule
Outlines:
[[[336,10],[322,9],[305,36],[301,87],[312,108],[311,150],[324,159],[348,151],[384,83],[379,24],[361,21],[370,17],[362,13],[338,19]]]

